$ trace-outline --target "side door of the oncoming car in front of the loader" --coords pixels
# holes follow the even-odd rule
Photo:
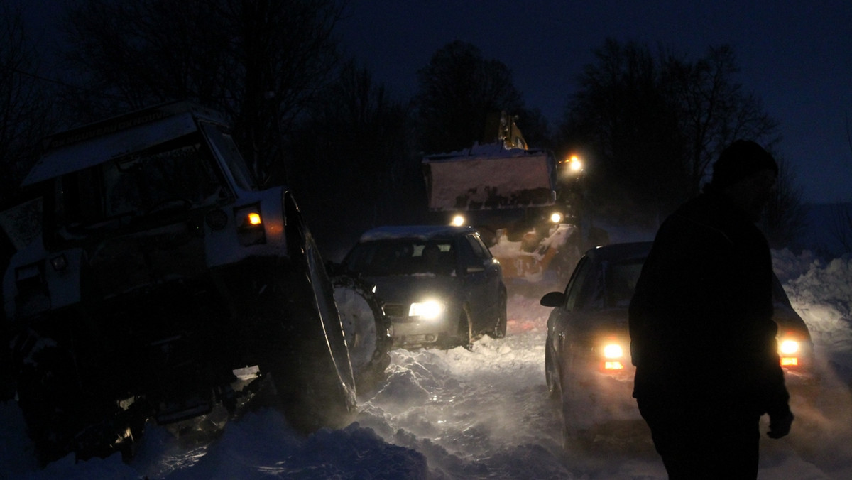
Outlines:
[[[465,234],[459,244],[465,297],[474,331],[481,332],[497,319],[500,267],[478,234]]]

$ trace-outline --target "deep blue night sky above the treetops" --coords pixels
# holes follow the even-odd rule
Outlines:
[[[728,43],[746,91],[780,122],[780,157],[803,200],[852,201],[852,2],[351,0],[343,47],[400,99],[437,49],[462,40],[513,73],[528,108],[555,127],[604,40],[694,60]],[[521,125],[522,128],[522,125]]]

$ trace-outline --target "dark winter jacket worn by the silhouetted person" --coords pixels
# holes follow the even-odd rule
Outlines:
[[[789,412],[772,275],[763,234],[723,197],[700,194],[668,217],[630,303],[634,396]]]

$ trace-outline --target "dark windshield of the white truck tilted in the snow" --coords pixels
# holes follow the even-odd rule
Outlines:
[[[216,203],[225,189],[200,136],[186,136],[61,178],[57,227],[69,233]]]

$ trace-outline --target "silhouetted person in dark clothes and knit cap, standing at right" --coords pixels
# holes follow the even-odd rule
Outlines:
[[[736,141],[704,191],[665,219],[630,301],[633,396],[672,479],[756,478],[759,420],[793,414],[772,320],[772,258],[755,223],[778,165]]]

